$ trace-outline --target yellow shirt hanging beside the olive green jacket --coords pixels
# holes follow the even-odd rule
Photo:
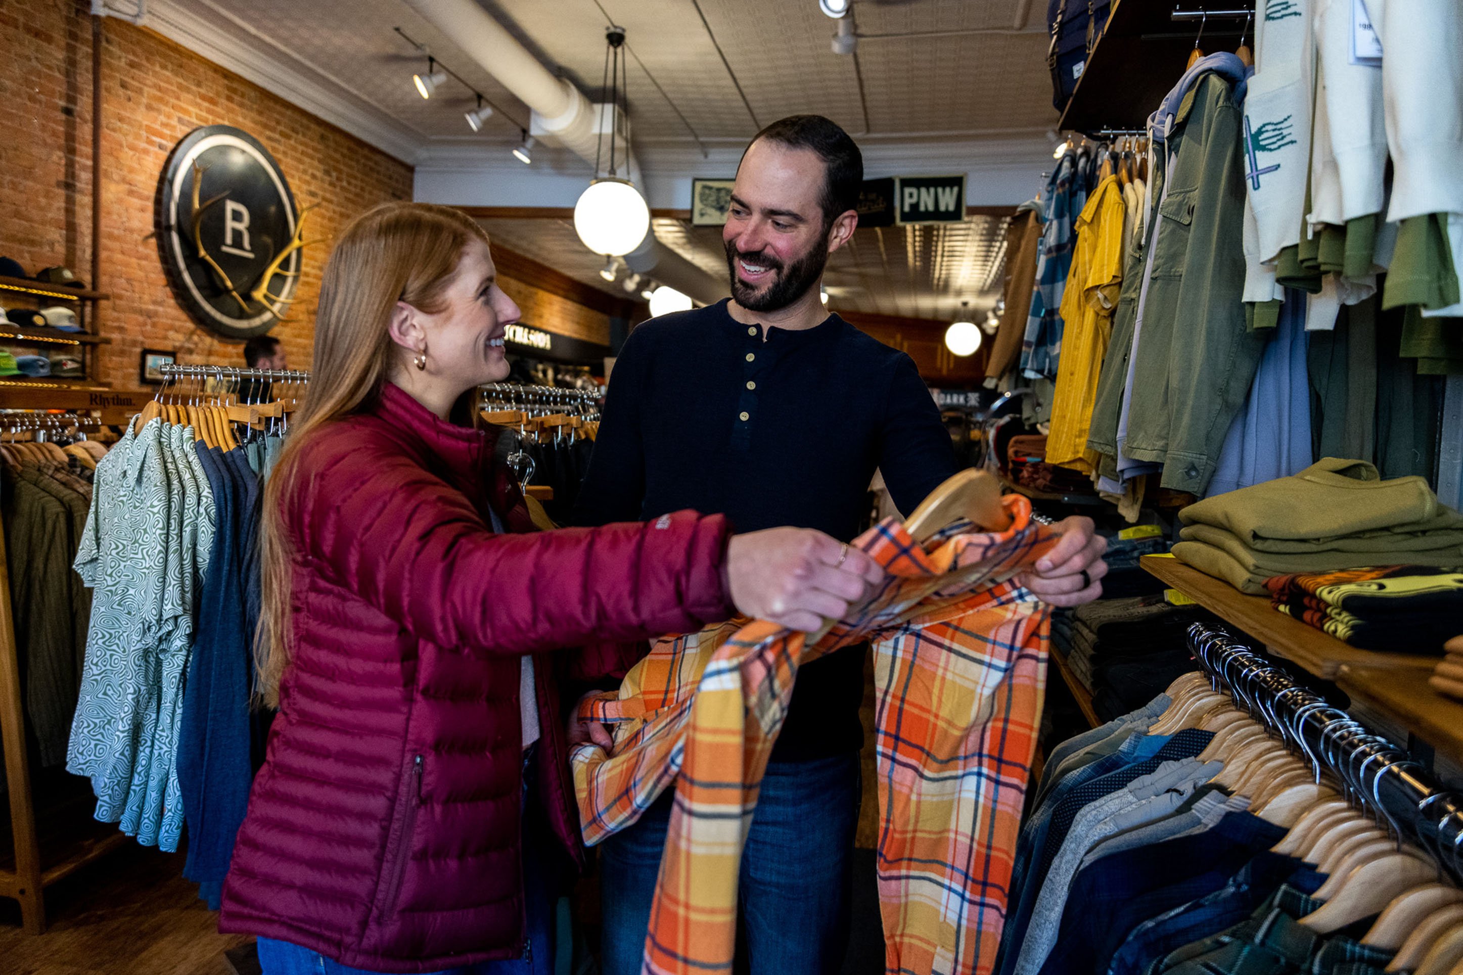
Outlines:
[[[1087,447],[1087,431],[1097,398],[1097,376],[1112,336],[1112,313],[1122,287],[1125,212],[1118,177],[1109,175],[1087,197],[1087,206],[1077,218],[1072,269],[1062,294],[1062,360],[1056,370],[1046,462],[1083,474],[1097,469],[1097,453]]]

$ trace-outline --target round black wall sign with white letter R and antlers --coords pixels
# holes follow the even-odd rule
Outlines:
[[[263,335],[300,282],[300,212],[269,151],[233,126],[190,132],[158,194],[158,247],[193,320],[227,339]]]

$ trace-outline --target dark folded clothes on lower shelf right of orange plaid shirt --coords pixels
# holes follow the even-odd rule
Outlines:
[[[1162,693],[1179,674],[1198,669],[1188,650],[1192,623],[1216,623],[1200,607],[1175,607],[1159,595],[1097,599],[1052,617],[1052,645],[1093,693],[1093,710],[1110,721]],[[1154,687],[1157,690],[1154,690]]]

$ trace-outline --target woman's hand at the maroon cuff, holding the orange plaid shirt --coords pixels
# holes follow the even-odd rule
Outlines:
[[[841,620],[849,604],[884,579],[884,569],[857,548],[806,528],[733,535],[726,573],[739,612],[808,633],[824,618]]]

